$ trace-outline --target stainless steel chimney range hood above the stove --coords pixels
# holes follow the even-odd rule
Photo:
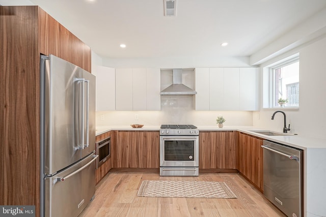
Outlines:
[[[182,69],[173,69],[173,83],[160,92],[161,95],[195,95],[196,90],[182,83]]]

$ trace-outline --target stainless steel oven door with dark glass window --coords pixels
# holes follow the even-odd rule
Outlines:
[[[160,136],[160,167],[198,167],[198,136]]]

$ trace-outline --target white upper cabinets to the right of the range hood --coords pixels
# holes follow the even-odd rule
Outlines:
[[[196,68],[196,110],[258,109],[258,68]]]

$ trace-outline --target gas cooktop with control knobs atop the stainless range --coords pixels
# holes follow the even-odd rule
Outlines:
[[[194,125],[161,125],[159,135],[163,136],[198,136],[199,130]]]

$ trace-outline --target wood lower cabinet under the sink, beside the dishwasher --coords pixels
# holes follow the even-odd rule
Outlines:
[[[238,170],[263,191],[263,139],[239,133]]]

